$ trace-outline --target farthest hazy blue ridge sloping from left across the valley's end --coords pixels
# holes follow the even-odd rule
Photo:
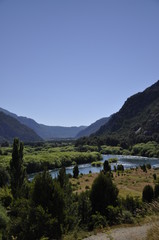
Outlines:
[[[59,138],[75,138],[76,135],[81,130],[86,128],[85,126],[80,127],[47,126],[39,124],[31,118],[19,117],[16,114],[11,113],[3,108],[0,108],[0,111],[3,111],[5,114],[16,118],[20,123],[34,130],[44,140]]]

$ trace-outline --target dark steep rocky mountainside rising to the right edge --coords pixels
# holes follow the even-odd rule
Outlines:
[[[128,98],[120,111],[103,125],[96,136],[131,141],[159,141],[159,81]]]

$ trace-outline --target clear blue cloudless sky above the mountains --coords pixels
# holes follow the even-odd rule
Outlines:
[[[159,0],[0,0],[0,107],[89,125],[159,79]]]

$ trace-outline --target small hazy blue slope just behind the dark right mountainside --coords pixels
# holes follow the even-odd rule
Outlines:
[[[109,121],[109,119],[110,117],[105,117],[97,120],[96,122],[92,123],[90,126],[85,128],[84,130],[80,131],[77,134],[76,138],[85,137],[85,136],[88,137],[91,134],[97,132],[102,125],[106,124]]]

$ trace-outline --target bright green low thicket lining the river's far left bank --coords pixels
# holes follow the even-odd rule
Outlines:
[[[0,149],[0,166],[6,168],[9,166],[11,152],[11,147]],[[73,145],[65,146],[65,143],[61,147],[52,143],[31,144],[26,145],[24,149],[24,165],[27,173],[99,160],[101,160],[100,153],[96,151],[79,152]]]

